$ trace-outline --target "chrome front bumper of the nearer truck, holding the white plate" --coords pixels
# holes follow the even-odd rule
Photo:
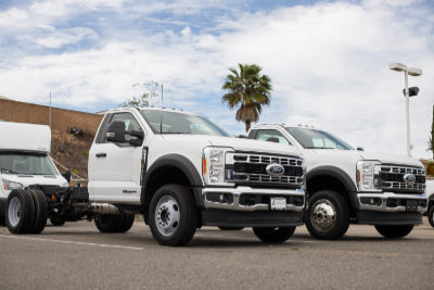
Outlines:
[[[229,193],[233,196],[233,203],[220,203],[208,201],[206,193]],[[240,204],[240,197],[242,194],[265,194],[272,197],[302,197],[303,205],[296,206],[294,204],[286,204],[286,211],[302,212],[305,204],[305,192],[297,189],[261,189],[251,187],[237,187],[237,188],[203,188],[202,198],[204,201],[205,209],[218,209],[218,210],[232,210],[232,211],[269,211],[269,204],[257,203],[255,205],[242,205]]]

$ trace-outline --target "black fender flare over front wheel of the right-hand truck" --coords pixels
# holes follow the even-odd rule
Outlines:
[[[336,178],[337,180],[341,181],[341,184],[345,187],[346,191],[348,192],[350,205],[353,209],[358,209],[358,201],[357,201],[357,188],[356,185],[354,184],[353,179],[348,176],[346,172],[341,169],[340,167],[336,166],[318,166],[315,167],[314,169],[307,172],[306,174],[306,184],[309,184],[309,180],[311,180],[314,177],[320,176],[320,175],[328,175],[331,177]]]

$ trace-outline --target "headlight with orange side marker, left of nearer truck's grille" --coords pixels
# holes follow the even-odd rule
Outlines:
[[[207,147],[204,149],[202,174],[206,185],[227,185],[225,180],[225,154],[232,148]]]

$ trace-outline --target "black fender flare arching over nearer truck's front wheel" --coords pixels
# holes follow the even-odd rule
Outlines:
[[[146,185],[151,181],[150,177],[155,173],[155,171],[159,169],[161,167],[164,166],[171,166],[171,167],[177,167],[180,169],[189,179],[190,185],[193,187],[194,191],[194,198],[197,202],[197,199],[200,197],[196,197],[199,192],[195,190],[197,187],[203,187],[203,180],[197,172],[196,167],[193,165],[193,163],[187,159],[183,155],[180,154],[167,154],[158,157],[152,165],[149,167],[149,169],[143,174],[143,179],[142,179],[142,190],[140,194],[140,202],[142,204],[146,204]],[[199,204],[197,204],[199,205]]]

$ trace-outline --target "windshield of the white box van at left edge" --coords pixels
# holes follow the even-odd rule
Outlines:
[[[55,175],[58,172],[47,154],[0,152],[2,174]]]

